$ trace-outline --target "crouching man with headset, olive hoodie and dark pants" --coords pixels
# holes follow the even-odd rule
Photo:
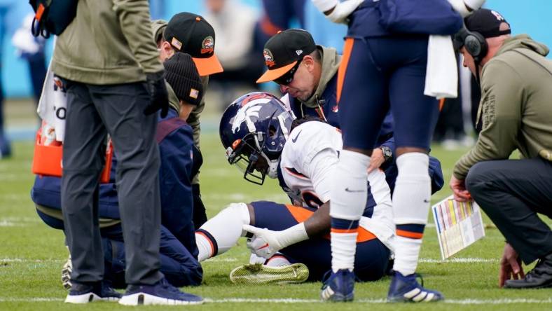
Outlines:
[[[450,188],[473,198],[506,237],[499,286],[552,287],[552,62],[530,36],[510,35],[496,11],[480,9],[455,36],[464,67],[481,83],[476,145],[457,161]],[[509,160],[515,150],[521,160]],[[521,261],[529,265],[524,275]],[[513,279],[511,279],[513,278]]]

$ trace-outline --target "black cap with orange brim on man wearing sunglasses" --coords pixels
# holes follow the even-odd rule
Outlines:
[[[315,40],[303,29],[287,29],[278,32],[265,43],[263,57],[268,70],[258,78],[257,83],[273,81],[293,69],[316,50]]]

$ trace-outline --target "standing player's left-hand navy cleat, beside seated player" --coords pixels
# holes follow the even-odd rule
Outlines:
[[[329,301],[352,301],[354,299],[354,272],[349,269],[340,269],[331,272],[330,277],[324,281],[320,298]]]

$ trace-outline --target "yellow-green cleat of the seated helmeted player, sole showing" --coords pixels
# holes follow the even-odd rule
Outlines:
[[[240,265],[230,272],[234,284],[286,284],[302,283],[309,277],[309,269],[303,263],[269,267],[261,263]]]

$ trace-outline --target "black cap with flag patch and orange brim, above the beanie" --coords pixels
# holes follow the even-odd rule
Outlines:
[[[163,38],[177,51],[191,55],[200,76],[223,71],[214,55],[214,29],[202,16],[188,12],[174,15]]]

